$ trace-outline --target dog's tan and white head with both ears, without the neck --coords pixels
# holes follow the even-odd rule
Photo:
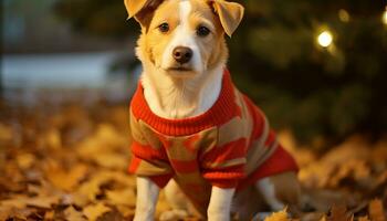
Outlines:
[[[137,55],[176,76],[192,76],[224,64],[224,33],[231,36],[243,7],[224,0],[124,0],[142,25]]]

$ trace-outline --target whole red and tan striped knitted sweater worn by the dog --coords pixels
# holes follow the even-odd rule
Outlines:
[[[139,83],[130,104],[130,129],[129,172],[149,177],[160,188],[174,178],[205,217],[211,186],[238,190],[297,170],[264,114],[233,86],[228,71],[216,104],[185,119],[155,115]]]

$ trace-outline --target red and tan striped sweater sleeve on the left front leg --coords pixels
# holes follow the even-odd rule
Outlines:
[[[142,131],[137,119],[130,116],[130,131],[133,141],[130,145],[132,159],[128,171],[136,176],[148,177],[159,188],[164,188],[174,176],[168,164],[164,148],[149,144]]]

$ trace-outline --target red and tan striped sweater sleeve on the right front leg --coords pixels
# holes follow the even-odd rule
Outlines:
[[[244,178],[245,138],[216,146],[201,156],[202,176],[212,186],[234,188]]]

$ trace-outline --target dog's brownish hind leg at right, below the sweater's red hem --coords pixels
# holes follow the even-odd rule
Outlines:
[[[283,172],[261,179],[255,187],[272,210],[282,210],[287,206],[295,213],[300,209],[301,187],[294,172]]]

